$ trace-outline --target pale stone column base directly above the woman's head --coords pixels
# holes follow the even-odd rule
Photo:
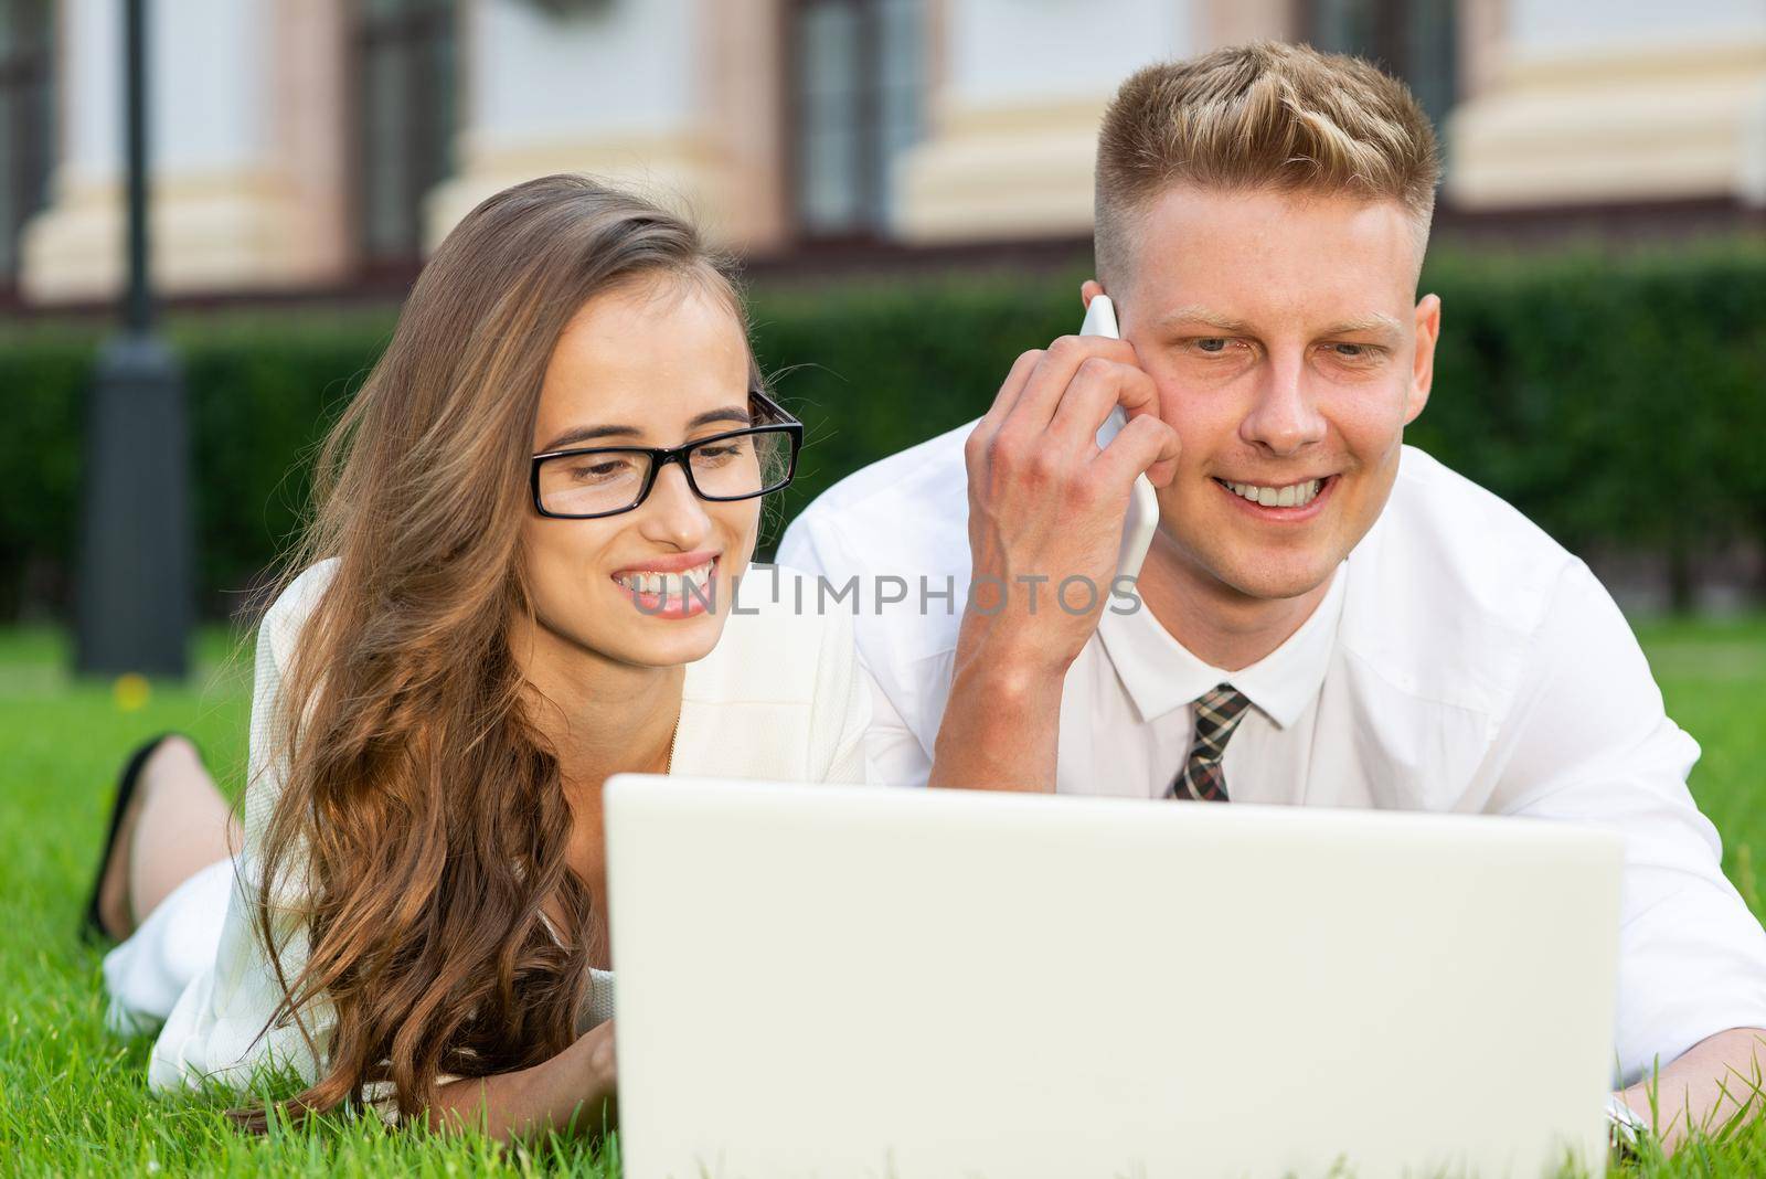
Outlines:
[[[479,201],[569,171],[691,214],[740,249],[784,233],[779,0],[645,0],[551,14],[470,0],[457,175],[431,192],[433,249]]]

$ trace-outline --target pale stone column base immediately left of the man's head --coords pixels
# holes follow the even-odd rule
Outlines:
[[[945,0],[936,12],[931,136],[897,168],[895,231],[909,242],[1090,233],[1104,106],[1213,26],[1208,0]]]

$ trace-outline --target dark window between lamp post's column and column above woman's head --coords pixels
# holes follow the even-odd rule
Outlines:
[[[422,254],[422,201],[454,171],[454,0],[357,0],[355,219],[362,263]]]

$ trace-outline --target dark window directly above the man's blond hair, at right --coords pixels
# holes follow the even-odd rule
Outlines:
[[[1459,99],[1453,0],[1312,0],[1314,48],[1353,53],[1402,78],[1434,120]]]

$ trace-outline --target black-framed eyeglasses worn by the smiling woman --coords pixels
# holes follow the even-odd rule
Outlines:
[[[763,418],[683,447],[576,447],[533,455],[533,510],[549,519],[593,521],[641,505],[669,462],[692,494],[712,503],[782,491],[796,475],[804,424],[766,394],[749,392]]]

